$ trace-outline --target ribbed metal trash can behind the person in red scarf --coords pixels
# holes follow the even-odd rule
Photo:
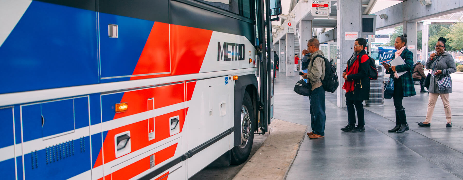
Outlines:
[[[384,73],[382,66],[376,66],[376,69],[378,69],[378,79],[370,81],[370,97],[365,101],[365,105],[370,107],[384,106]]]

